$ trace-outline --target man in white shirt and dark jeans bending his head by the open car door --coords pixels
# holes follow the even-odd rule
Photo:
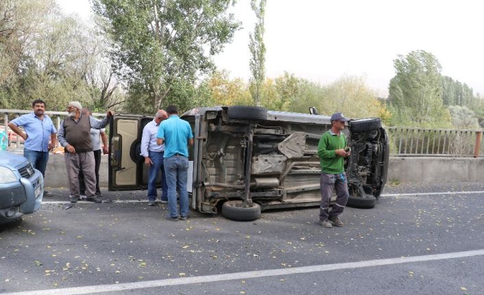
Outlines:
[[[158,110],[155,118],[145,125],[143,128],[143,137],[141,138],[141,155],[145,157],[145,164],[149,167],[148,176],[148,205],[154,206],[156,201],[156,179],[158,179],[158,172],[162,171],[161,175],[161,202],[168,202],[168,185],[165,178],[165,166],[163,165],[163,155],[165,151],[165,144],[156,144],[156,133],[162,120],[168,118],[165,110]]]

